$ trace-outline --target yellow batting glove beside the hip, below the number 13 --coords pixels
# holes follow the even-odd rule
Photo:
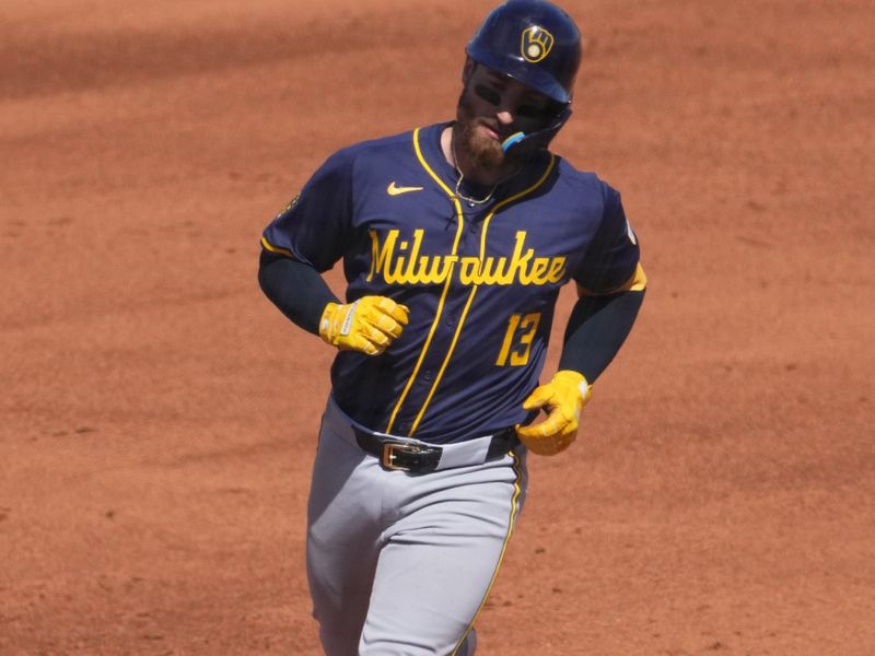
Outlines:
[[[547,419],[528,426],[516,426],[516,434],[528,449],[539,456],[552,456],[567,449],[578,436],[578,422],[592,387],[578,372],[557,372],[523,401],[525,410],[546,408]]]

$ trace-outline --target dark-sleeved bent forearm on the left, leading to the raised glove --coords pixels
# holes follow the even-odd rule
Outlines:
[[[267,250],[261,251],[258,283],[282,314],[313,335],[319,333],[319,319],[325,306],[337,302],[337,296],[316,269]]]

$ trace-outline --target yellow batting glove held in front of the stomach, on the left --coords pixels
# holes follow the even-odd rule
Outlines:
[[[377,355],[398,339],[410,311],[386,296],[362,296],[354,303],[329,303],[319,320],[319,337],[340,350]]]

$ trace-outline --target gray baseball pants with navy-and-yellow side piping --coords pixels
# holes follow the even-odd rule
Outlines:
[[[329,400],[307,507],[325,653],[472,656],[474,621],[525,497],[525,449],[430,473],[387,471],[350,424]],[[464,462],[476,450],[450,445],[444,455]]]

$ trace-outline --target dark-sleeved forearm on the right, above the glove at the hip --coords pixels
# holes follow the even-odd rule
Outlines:
[[[580,298],[565,328],[559,368],[580,372],[592,384],[629,337],[643,301],[643,291]]]

